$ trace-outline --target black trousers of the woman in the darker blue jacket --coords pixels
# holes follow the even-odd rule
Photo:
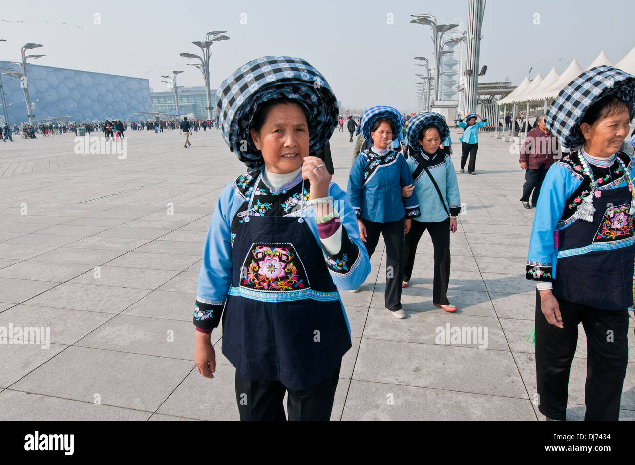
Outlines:
[[[386,290],[384,292],[385,306],[390,311],[401,310],[401,282],[403,281],[403,232],[404,219],[375,223],[362,218],[366,226],[366,251],[368,258],[375,252],[379,233],[384,236],[386,245]],[[412,221],[414,223],[414,221]]]

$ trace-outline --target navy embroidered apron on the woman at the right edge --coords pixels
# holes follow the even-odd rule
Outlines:
[[[633,303],[635,249],[631,192],[624,186],[599,190],[593,221],[576,219],[558,232],[554,296],[606,310],[625,310]]]

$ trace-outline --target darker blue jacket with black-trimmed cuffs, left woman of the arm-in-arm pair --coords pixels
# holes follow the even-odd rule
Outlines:
[[[353,162],[347,192],[358,218],[387,223],[420,215],[417,195],[401,197],[401,188],[412,185],[412,173],[399,152],[378,155],[364,150]]]

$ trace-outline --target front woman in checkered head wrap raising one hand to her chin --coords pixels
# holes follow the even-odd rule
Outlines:
[[[337,291],[370,272],[357,220],[323,155],[337,100],[302,58],[264,56],[221,84],[223,136],[249,169],[220,194],[203,249],[195,360],[214,377],[211,331],[236,367],[241,420],[328,421],[351,332]],[[220,370],[221,374],[223,370]]]

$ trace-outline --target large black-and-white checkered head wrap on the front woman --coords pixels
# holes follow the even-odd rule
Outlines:
[[[263,164],[251,140],[258,107],[274,98],[296,100],[307,115],[309,150],[323,148],[337,126],[337,99],[324,76],[302,58],[263,56],[241,66],[220,84],[216,97],[218,126],[225,142],[250,168]]]

